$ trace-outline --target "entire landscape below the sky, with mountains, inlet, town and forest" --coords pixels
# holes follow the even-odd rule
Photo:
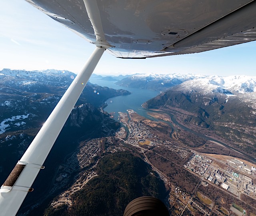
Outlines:
[[[4,73],[3,181],[75,76],[57,70]],[[120,215],[138,196],[160,198],[171,215],[256,214],[253,79],[228,89],[225,82],[237,78],[174,74],[166,76],[173,86],[167,90],[162,78],[92,76],[110,88],[88,83],[18,215]],[[122,79],[129,87],[113,89]],[[140,89],[130,88],[135,82]]]

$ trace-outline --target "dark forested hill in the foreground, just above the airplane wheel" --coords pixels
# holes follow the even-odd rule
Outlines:
[[[96,167],[98,176],[72,197],[73,205],[58,209],[48,207],[46,216],[122,215],[126,205],[140,196],[154,196],[164,201],[164,182],[141,158],[130,152],[104,156]]]

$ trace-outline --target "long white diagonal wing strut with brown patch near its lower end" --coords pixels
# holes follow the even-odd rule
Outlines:
[[[96,47],[0,188],[0,216],[15,216],[105,48]]]

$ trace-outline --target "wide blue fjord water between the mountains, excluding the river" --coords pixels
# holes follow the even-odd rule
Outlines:
[[[147,100],[154,98],[155,96],[160,94],[160,92],[158,91],[118,86],[115,84],[116,81],[97,80],[94,78],[90,78],[90,82],[93,84],[97,84],[99,86],[107,86],[108,88],[128,90],[129,92],[132,93],[129,95],[117,96],[117,97],[106,100],[106,103],[108,104],[108,106],[104,108],[104,111],[108,113],[115,112],[114,114],[115,120],[118,119],[118,112],[126,112],[126,110],[128,109],[132,109],[138,114],[143,113],[142,116],[144,116],[145,112],[143,110],[140,110],[141,105]]]

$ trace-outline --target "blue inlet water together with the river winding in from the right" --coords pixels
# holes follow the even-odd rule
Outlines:
[[[188,132],[192,132],[193,134],[195,134],[196,136],[199,136],[201,138],[204,138],[205,140],[208,141],[213,141],[213,142],[218,142],[218,144],[230,149],[230,150],[234,150],[240,154],[242,154],[244,157],[252,160],[254,163],[256,163],[256,158],[253,158],[247,154],[244,154],[243,152],[240,152],[230,146],[228,146],[227,144],[220,142],[218,140],[215,140],[213,138],[210,138],[208,136],[205,136],[203,134],[197,133],[187,127],[185,127],[184,125],[180,124],[174,115],[172,115],[169,112],[164,112],[164,111],[153,111],[153,110],[149,110],[149,109],[145,109],[141,107],[141,104],[143,104],[144,102],[146,102],[147,100],[157,96],[160,92],[157,91],[151,91],[151,90],[146,90],[146,89],[138,89],[138,88],[127,88],[127,87],[122,87],[122,86],[118,86],[116,85],[114,82],[112,81],[105,81],[105,80],[96,80],[96,79],[90,79],[90,82],[92,83],[96,83],[100,86],[107,86],[109,88],[114,88],[114,89],[124,89],[124,90],[128,90],[130,91],[132,94],[130,95],[126,95],[126,96],[117,96],[114,98],[110,98],[106,101],[106,103],[108,104],[108,106],[106,108],[104,108],[104,111],[110,113],[110,112],[115,112],[114,114],[114,119],[118,120],[118,112],[126,112],[126,110],[128,109],[132,109],[135,112],[137,112],[140,116],[146,117],[150,120],[154,120],[154,121],[162,121],[162,122],[166,122],[167,124],[169,124],[170,126],[172,126],[174,129],[174,125],[171,122],[167,122],[164,120],[159,120],[156,119],[152,116],[149,116],[147,114],[147,112],[160,112],[160,113],[164,113],[164,114],[168,114],[171,119],[172,122],[174,124],[176,124],[177,126],[179,126],[180,128],[182,128],[185,131]]]

